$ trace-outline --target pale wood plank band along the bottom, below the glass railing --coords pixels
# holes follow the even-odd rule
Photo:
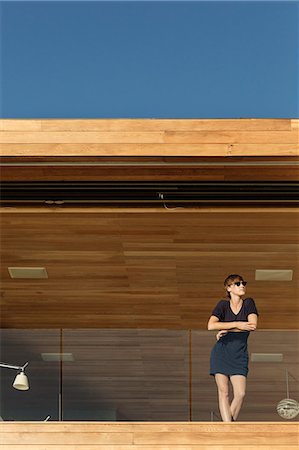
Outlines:
[[[1,423],[1,450],[297,450],[298,424]]]

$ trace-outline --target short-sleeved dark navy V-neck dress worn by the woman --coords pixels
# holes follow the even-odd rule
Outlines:
[[[248,315],[259,315],[253,298],[243,300],[238,314],[231,310],[229,300],[220,300],[212,311],[212,315],[218,317],[220,322],[248,322]],[[228,332],[222,336],[211,350],[210,375],[216,373],[224,375],[248,374],[248,349],[247,339],[250,331]]]

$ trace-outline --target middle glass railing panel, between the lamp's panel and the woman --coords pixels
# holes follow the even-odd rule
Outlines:
[[[63,330],[64,420],[188,421],[188,330]]]

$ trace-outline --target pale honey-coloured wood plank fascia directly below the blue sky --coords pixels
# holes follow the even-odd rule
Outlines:
[[[2,119],[0,125],[2,156],[299,154],[292,119]]]

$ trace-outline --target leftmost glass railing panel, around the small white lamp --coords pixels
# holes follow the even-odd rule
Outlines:
[[[43,421],[48,416],[58,420],[60,363],[44,361],[42,353],[59,352],[60,330],[0,330],[1,362],[16,366],[29,362],[25,369],[29,390],[13,388],[17,370],[0,368],[3,420]]]

